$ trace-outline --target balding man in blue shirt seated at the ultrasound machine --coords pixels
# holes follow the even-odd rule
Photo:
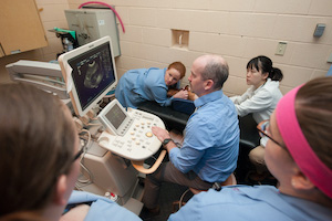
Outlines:
[[[196,112],[184,131],[181,148],[170,139],[167,130],[152,130],[169,154],[170,161],[145,180],[143,202],[152,212],[158,212],[157,199],[163,181],[207,190],[214,182],[225,181],[236,169],[239,150],[239,127],[232,102],[222,94],[228,78],[228,64],[218,55],[196,59],[188,77],[198,98]]]

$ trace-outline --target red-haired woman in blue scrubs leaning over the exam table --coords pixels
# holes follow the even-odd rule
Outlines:
[[[186,67],[180,62],[174,62],[167,69],[131,70],[120,78],[115,97],[124,107],[137,108],[141,103],[147,101],[169,106],[173,98],[188,98],[188,92],[185,90],[167,97],[168,88],[179,88],[179,80],[185,74]]]

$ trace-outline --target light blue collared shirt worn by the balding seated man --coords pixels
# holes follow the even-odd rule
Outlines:
[[[174,166],[194,170],[208,182],[225,181],[236,169],[239,152],[238,116],[232,102],[217,91],[194,102],[181,148],[169,151]]]

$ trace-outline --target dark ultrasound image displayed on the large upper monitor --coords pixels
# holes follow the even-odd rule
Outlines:
[[[110,43],[71,59],[69,64],[83,110],[115,82]]]

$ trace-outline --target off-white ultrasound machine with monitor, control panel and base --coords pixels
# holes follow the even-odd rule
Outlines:
[[[80,161],[81,175],[76,181],[76,189],[111,196],[118,204],[139,214],[144,193],[139,180],[145,173],[153,172],[166,155],[163,150],[151,168],[144,164],[144,160],[155,155],[162,146],[153,135],[152,127],[165,128],[163,120],[143,110],[125,109],[116,99],[104,108],[100,107],[103,97],[117,84],[110,36],[66,52],[60,55],[58,61],[58,66],[51,66],[55,69],[55,77],[62,73],[62,84],[65,86],[60,85],[60,88],[65,87],[69,94],[74,120],[80,136],[83,137],[84,154]],[[27,63],[23,64],[25,69],[18,69],[19,64],[7,67],[14,81],[27,82],[21,77],[22,74],[18,74],[27,71]],[[37,63],[31,66],[41,69]],[[39,73],[37,78],[43,74],[48,75],[46,70],[41,71],[42,74]],[[46,78],[50,80],[49,76]],[[54,76],[51,78],[53,81]],[[35,81],[29,83],[33,82]],[[44,85],[42,87],[45,90]]]

